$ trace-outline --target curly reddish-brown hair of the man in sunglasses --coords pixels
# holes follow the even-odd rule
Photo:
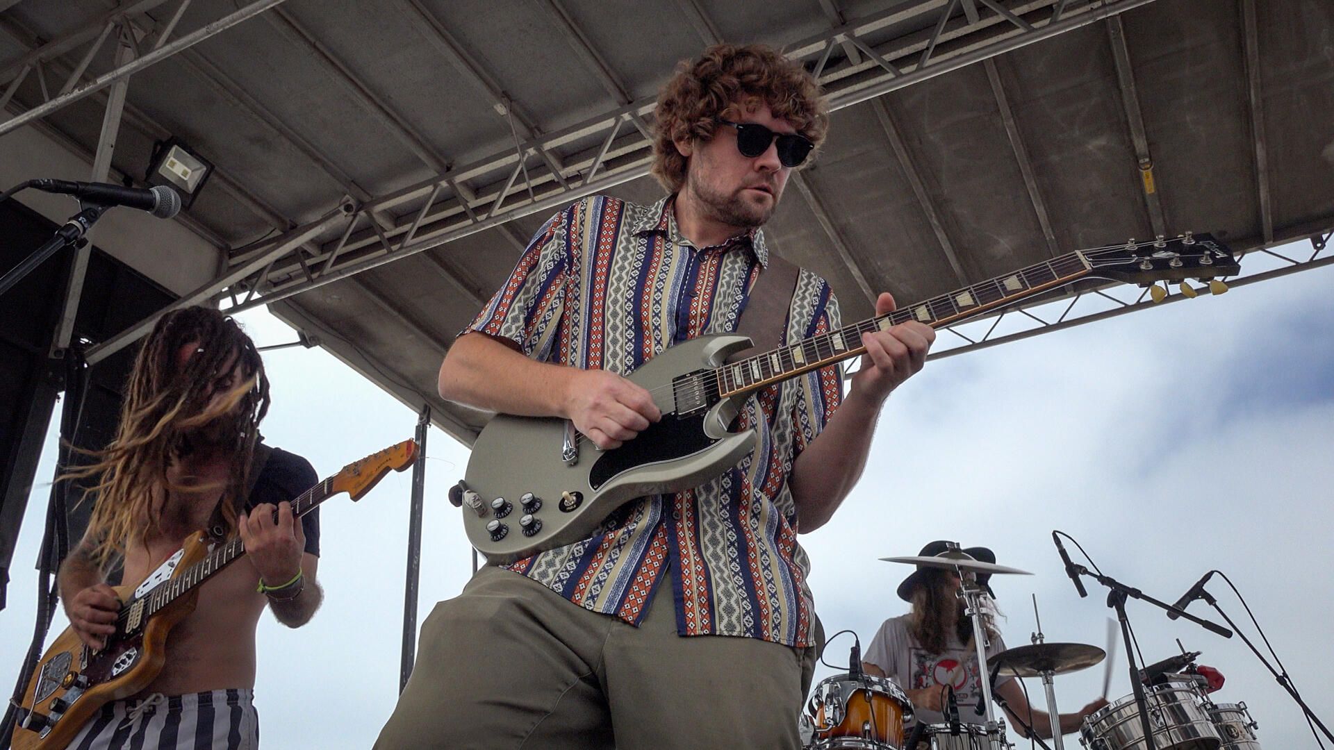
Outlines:
[[[654,112],[652,173],[667,192],[686,184],[686,157],[676,139],[708,140],[718,119],[735,117],[736,104],[746,109],[767,104],[775,117],[788,120],[796,132],[819,149],[828,129],[828,112],[819,85],[800,64],[764,44],[715,44],[676,67],[676,75],[658,93]],[[807,163],[814,160],[814,152]]]

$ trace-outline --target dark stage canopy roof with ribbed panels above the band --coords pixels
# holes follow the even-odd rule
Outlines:
[[[654,97],[707,44],[826,87],[828,141],[766,234],[855,320],[1130,238],[1313,238],[1274,272],[1323,264],[1331,33],[1327,0],[0,0],[0,147],[35,129],[141,183],[180,139],[215,167],[180,222],[217,268],[183,299],[271,304],[471,443],[444,351],[555,210],[662,195]],[[1102,304],[1061,326],[1149,304],[1081,294]]]

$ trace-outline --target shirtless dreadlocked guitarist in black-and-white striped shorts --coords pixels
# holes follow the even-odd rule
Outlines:
[[[144,340],[115,440],[71,472],[96,480],[97,500],[60,567],[69,623],[100,647],[116,633],[120,606],[108,571],[119,562],[124,582],[141,581],[200,530],[216,539],[239,534],[249,562],[201,586],[195,611],[167,638],[157,678],[103,706],[71,747],[257,745],[251,698],[260,613],[267,605],[279,622],[299,627],[321,599],[319,518],[312,511],[296,523],[285,502],[315,484],[315,470],[260,443],[268,406],[253,342],[216,310],[172,311]]]

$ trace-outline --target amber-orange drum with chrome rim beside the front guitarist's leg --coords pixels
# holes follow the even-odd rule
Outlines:
[[[902,750],[903,722],[912,717],[899,686],[874,674],[822,679],[806,710],[814,730],[810,750]]]

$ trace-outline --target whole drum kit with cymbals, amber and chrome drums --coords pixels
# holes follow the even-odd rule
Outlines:
[[[1039,625],[1031,646],[1009,649],[987,659],[982,621],[984,589],[976,577],[1029,575],[1026,571],[976,560],[954,543],[938,556],[882,559],[950,570],[959,575],[959,598],[964,601],[964,611],[972,622],[978,663],[987,665],[987,674],[980,679],[984,721],[918,722],[908,733],[914,711],[907,694],[887,678],[863,673],[860,665],[854,662],[850,673],[828,677],[812,690],[806,713],[800,717],[804,749],[1011,750],[1014,746],[1006,738],[1005,721],[992,711],[992,685],[1000,677],[1035,677],[1042,679],[1046,690],[1053,743],[1055,750],[1063,750],[1053,678],[1091,667],[1105,659],[1106,651],[1085,643],[1043,643]],[[1178,671],[1158,671],[1151,674],[1151,681],[1146,681],[1151,682],[1143,689],[1149,722],[1141,719],[1141,702],[1135,695],[1107,703],[1085,717],[1079,727],[1083,747],[1149,750],[1142,729],[1147,725],[1153,727],[1154,750],[1261,750],[1255,739],[1258,725],[1251,719],[1246,703],[1214,703],[1207,698],[1207,681],[1194,673],[1197,655],[1198,653],[1186,653],[1169,659]],[[1142,674],[1151,670],[1153,667],[1143,670]],[[1031,730],[1027,734],[1031,735]],[[1043,743],[1043,747],[1047,746]]]

